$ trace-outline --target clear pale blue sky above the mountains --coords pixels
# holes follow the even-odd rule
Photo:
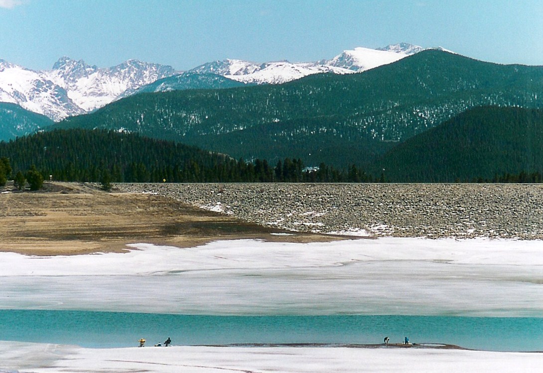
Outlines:
[[[314,61],[408,42],[543,65],[541,0],[0,0],[0,59],[49,69],[63,55],[109,67],[189,69],[217,59]]]

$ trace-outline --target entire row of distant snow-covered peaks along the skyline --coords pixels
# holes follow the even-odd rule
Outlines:
[[[227,59],[213,61],[176,72],[173,67],[128,60],[110,68],[98,68],[83,60],[66,56],[52,69],[33,71],[0,60],[0,102],[15,103],[22,108],[45,115],[54,121],[91,112],[116,99],[136,92],[179,90],[188,88],[220,88],[235,84],[219,84],[224,79],[249,84],[279,84],[310,74],[361,72],[389,64],[424,48],[407,43],[390,45],[381,50],[355,48],[345,50],[331,60],[291,63],[288,61],[255,63]],[[201,75],[201,76],[200,76]],[[156,80],[172,77],[164,84]],[[152,86],[146,86],[153,84]],[[141,90],[138,91],[138,89]]]

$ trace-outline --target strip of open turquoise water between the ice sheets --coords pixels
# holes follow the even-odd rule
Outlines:
[[[543,318],[397,315],[205,316],[0,310],[0,340],[84,347],[260,343],[447,343],[494,351],[543,351]]]

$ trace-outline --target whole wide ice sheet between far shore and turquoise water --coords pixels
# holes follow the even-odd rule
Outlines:
[[[541,241],[356,239],[0,254],[0,308],[184,314],[543,315]]]

